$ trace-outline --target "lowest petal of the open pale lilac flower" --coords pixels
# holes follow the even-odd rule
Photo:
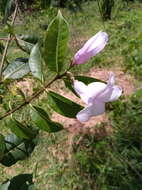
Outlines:
[[[101,115],[105,112],[105,103],[96,101],[93,105],[88,106],[77,114],[80,122],[88,121],[92,116]]]

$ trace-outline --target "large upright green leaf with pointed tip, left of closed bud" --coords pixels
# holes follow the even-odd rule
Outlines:
[[[67,53],[69,29],[61,12],[50,23],[44,41],[44,59],[51,71],[61,73],[67,68],[64,61]]]

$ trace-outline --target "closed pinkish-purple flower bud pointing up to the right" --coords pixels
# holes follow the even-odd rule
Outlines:
[[[74,64],[83,64],[91,57],[102,51],[108,42],[108,34],[105,32],[98,32],[95,36],[90,38],[84,46],[75,54],[73,59]]]

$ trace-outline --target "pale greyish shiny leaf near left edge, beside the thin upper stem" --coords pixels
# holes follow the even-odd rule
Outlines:
[[[30,72],[29,63],[27,58],[17,58],[10,63],[3,72],[4,80],[19,79]]]

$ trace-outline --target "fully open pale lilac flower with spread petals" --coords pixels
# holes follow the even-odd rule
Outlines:
[[[77,114],[80,122],[88,121],[92,116],[97,116],[105,112],[105,103],[117,100],[121,94],[121,87],[114,85],[115,77],[111,72],[107,84],[103,82],[93,82],[85,85],[83,82],[75,80],[74,89],[81,99],[87,104],[83,110]]]

